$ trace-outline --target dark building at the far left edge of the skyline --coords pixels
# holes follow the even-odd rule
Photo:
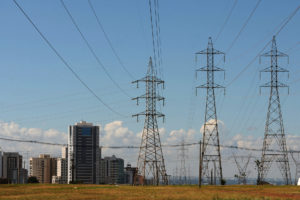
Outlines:
[[[17,152],[2,154],[2,177],[8,183],[26,183],[27,170],[22,168],[22,156]]]

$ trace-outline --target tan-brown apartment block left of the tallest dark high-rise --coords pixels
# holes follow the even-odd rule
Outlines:
[[[30,158],[30,176],[35,176],[40,183],[52,183],[52,176],[57,173],[57,158],[41,154],[38,158]]]

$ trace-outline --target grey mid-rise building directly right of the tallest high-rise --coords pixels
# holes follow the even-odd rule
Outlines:
[[[115,155],[105,157],[100,161],[101,184],[124,183],[124,160]]]

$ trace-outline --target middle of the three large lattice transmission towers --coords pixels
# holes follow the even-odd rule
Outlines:
[[[225,61],[225,54],[220,52],[213,47],[212,39],[209,37],[207,49],[196,53],[198,55],[205,55],[207,59],[207,65],[196,70],[206,73],[206,83],[196,87],[197,89],[206,89],[206,107],[205,107],[205,121],[202,137],[201,153],[200,153],[200,170],[199,170],[199,183],[201,185],[202,179],[207,179],[209,184],[222,183],[222,163],[220,154],[220,141],[219,141],[219,130],[218,120],[216,111],[216,99],[215,89],[225,88],[215,83],[215,72],[224,71],[223,69],[216,67],[214,64],[215,55],[223,55]],[[209,145],[208,145],[209,144]]]

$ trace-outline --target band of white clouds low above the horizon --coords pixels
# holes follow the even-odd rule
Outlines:
[[[224,130],[224,122],[218,120],[219,127]],[[100,126],[100,144],[102,146],[139,146],[141,142],[142,132],[135,133],[128,127],[124,126],[122,121],[113,121]],[[184,138],[185,143],[197,142],[201,137],[200,130],[194,129],[177,129],[177,130],[166,130],[164,127],[159,129],[162,144],[179,144]],[[67,143],[67,134],[60,132],[56,129],[42,130],[39,128],[26,128],[20,127],[14,122],[1,122],[0,121],[0,136],[10,137],[16,139],[27,139],[27,140],[40,140],[47,142],[56,143]],[[299,150],[300,136],[287,135],[287,145],[290,149]],[[236,145],[239,147],[247,148],[258,148],[262,147],[263,136],[254,137],[249,135],[237,134],[228,140],[224,141],[222,135],[220,135],[221,144],[225,145]],[[16,143],[7,142],[0,140],[0,147],[4,151],[17,151],[23,155],[25,152],[31,152],[32,156],[37,156],[39,153],[50,153],[53,156],[60,156],[61,148],[59,146],[47,146],[38,144],[28,144],[28,143]],[[191,174],[197,175],[198,173],[198,157],[199,157],[199,146],[185,146],[188,150],[186,160],[186,166],[192,166]],[[125,163],[130,162],[133,166],[136,165],[139,149],[103,149],[103,156],[116,155],[125,160]],[[176,167],[180,167],[180,157],[179,157],[179,147],[178,148],[167,148],[163,147],[164,158],[166,162],[166,167],[169,174],[172,174],[172,170]],[[247,154],[249,152],[239,152],[241,154]],[[224,171],[225,175],[233,176],[230,173],[232,169],[235,169],[233,160],[226,160],[232,156],[232,149],[222,148],[222,159],[224,161]],[[256,152],[252,155],[260,156],[260,152]],[[253,163],[252,163],[253,164]],[[254,166],[251,166],[252,168]],[[227,170],[226,170],[227,169]],[[230,175],[229,175],[230,174]],[[253,174],[254,175],[254,174]]]

